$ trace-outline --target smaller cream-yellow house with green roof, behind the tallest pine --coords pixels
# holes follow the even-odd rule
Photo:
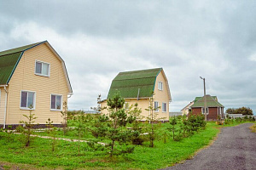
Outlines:
[[[146,109],[148,109],[151,98],[154,98],[154,108],[160,107],[155,111],[158,118],[163,118],[163,121],[169,120],[169,103],[172,98],[166,74],[162,68],[119,72],[112,81],[108,99],[117,91],[125,98],[125,108],[138,104],[138,107],[142,109],[143,121],[149,116],[149,111]],[[107,107],[107,99],[102,101],[101,106]],[[108,111],[103,110],[102,113],[108,114]]]

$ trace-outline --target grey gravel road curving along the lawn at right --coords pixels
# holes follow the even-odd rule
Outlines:
[[[166,170],[256,170],[256,133],[245,123],[236,127],[224,127],[218,139],[193,159]]]

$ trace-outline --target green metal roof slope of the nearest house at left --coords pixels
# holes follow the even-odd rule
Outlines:
[[[14,73],[24,51],[41,43],[43,42],[32,43],[20,48],[12,48],[0,52],[0,85],[9,83],[9,79]]]

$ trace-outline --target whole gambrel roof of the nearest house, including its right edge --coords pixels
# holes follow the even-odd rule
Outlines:
[[[63,59],[61,59],[61,56],[55,52],[55,49],[52,48],[47,41],[36,42],[19,48],[12,48],[0,52],[0,85],[9,84],[9,81],[15,72],[16,66],[19,64],[20,59],[26,50],[34,48],[43,43],[45,43],[49,47],[49,49],[55,54],[55,56],[61,60],[61,65],[67,80],[67,87],[69,89],[69,92],[72,93],[73,90],[67,75],[66,65]]]

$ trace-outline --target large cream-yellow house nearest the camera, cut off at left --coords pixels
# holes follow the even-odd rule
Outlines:
[[[63,102],[73,93],[63,59],[49,42],[0,52],[0,126],[25,121],[29,110],[45,124],[61,124]],[[32,109],[30,109],[32,107]]]

